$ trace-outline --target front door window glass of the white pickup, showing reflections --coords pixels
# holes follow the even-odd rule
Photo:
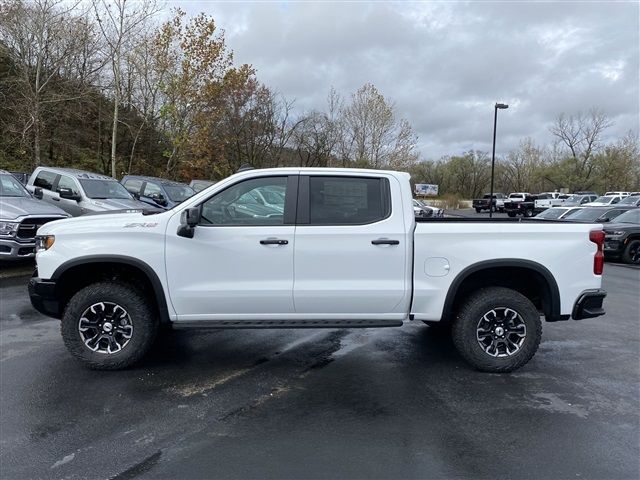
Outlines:
[[[287,177],[252,178],[236,183],[202,204],[201,224],[283,225],[286,186]],[[273,198],[270,195],[273,191],[283,193]]]

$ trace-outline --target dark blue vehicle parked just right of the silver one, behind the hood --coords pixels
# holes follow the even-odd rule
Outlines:
[[[196,194],[189,185],[164,178],[126,175],[121,183],[141,202],[166,209],[173,208]]]

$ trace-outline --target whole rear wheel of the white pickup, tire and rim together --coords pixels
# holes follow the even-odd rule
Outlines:
[[[515,290],[490,287],[467,298],[452,328],[460,355],[484,372],[511,372],[526,364],[542,337],[540,313]]]

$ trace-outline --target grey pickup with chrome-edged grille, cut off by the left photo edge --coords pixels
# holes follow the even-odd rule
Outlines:
[[[37,195],[42,195],[40,189]],[[0,259],[33,257],[38,228],[68,216],[59,208],[34,199],[18,179],[0,170]]]

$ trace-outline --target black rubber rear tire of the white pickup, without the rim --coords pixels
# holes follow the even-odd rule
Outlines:
[[[507,307],[516,311],[526,326],[524,343],[516,353],[493,357],[486,353],[476,338],[482,316],[494,309]],[[453,343],[462,357],[483,372],[511,372],[522,367],[535,355],[542,337],[540,313],[521,293],[503,287],[489,287],[471,294],[458,310],[452,326]]]

